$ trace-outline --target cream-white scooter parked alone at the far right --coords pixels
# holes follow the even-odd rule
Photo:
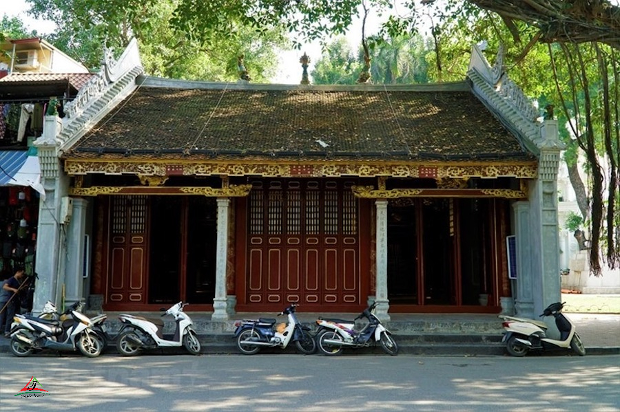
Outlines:
[[[540,316],[555,317],[555,325],[560,332],[560,338],[547,337],[547,324],[534,319],[515,318],[513,316],[499,315],[504,319],[502,326],[506,330],[502,343],[506,343],[506,351],[512,356],[526,356],[533,349],[572,349],[579,356],[586,354],[581,338],[575,332],[575,325],[562,314],[564,303],[552,303]]]

